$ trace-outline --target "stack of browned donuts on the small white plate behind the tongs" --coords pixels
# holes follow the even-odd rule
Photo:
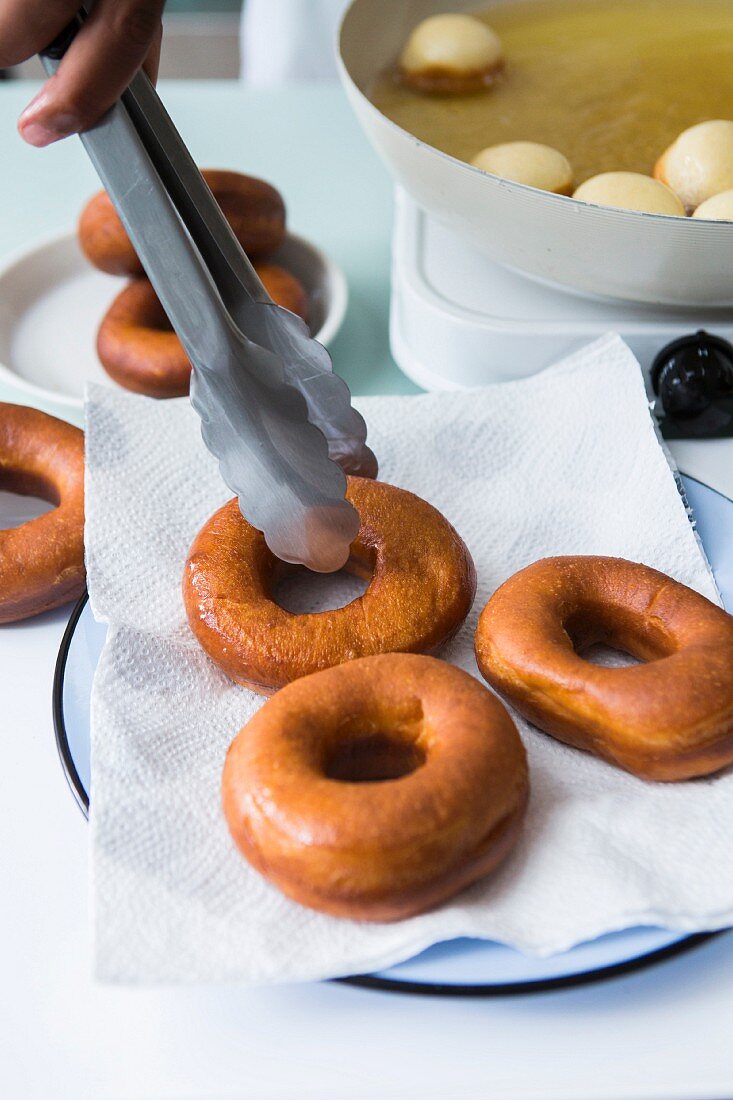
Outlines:
[[[285,240],[285,204],[280,191],[237,172],[205,168],[203,175],[270,297],[307,321],[309,302],[303,284],[271,258]],[[105,191],[85,207],[78,234],[95,267],[131,279],[99,328],[97,353],[102,366],[117,383],[138,394],[185,396],[190,382],[188,356]]]

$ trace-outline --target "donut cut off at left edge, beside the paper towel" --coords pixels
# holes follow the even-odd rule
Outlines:
[[[55,505],[0,530],[0,623],[15,623],[84,592],[84,432],[0,403],[0,487]]]

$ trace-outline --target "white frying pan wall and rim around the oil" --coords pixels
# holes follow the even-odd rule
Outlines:
[[[471,244],[537,279],[633,301],[733,305],[733,223],[593,207],[489,176],[426,145],[369,101],[374,77],[394,63],[416,23],[478,7],[485,6],[353,0],[347,10],[339,35],[343,86],[395,178]]]

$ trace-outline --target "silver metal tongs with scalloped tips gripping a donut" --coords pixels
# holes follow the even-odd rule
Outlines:
[[[81,25],[44,51],[50,75]],[[81,142],[192,362],[201,435],[242,514],[283,561],[340,569],[359,530],[344,471],[376,462],[328,352],[269,297],[144,73]]]

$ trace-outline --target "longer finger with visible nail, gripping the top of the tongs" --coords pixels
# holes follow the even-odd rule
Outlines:
[[[18,128],[31,145],[50,145],[94,125],[150,55],[154,70],[164,0],[98,0],[58,72],[25,108]]]

